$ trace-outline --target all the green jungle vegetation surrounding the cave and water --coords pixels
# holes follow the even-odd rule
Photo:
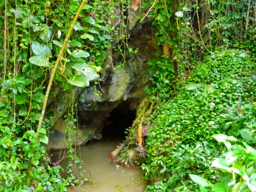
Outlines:
[[[0,191],[86,181],[71,171],[80,163],[71,145],[77,92],[97,86],[102,68],[125,64],[114,65],[111,50],[123,61],[134,52],[126,26],[138,12],[162,47],[148,60],[150,103],[127,136],[146,151],[137,161],[146,191],[256,191],[255,1],[141,0],[136,11],[133,3],[0,0]],[[58,99],[66,101],[67,178],[47,153]]]

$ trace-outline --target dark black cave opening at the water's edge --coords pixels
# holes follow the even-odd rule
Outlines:
[[[130,109],[129,102],[119,103],[106,118],[102,128],[102,137],[111,139],[125,139],[127,128],[131,127],[136,117],[136,110]]]

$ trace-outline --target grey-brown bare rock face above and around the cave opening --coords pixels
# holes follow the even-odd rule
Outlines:
[[[116,127],[116,124],[113,125],[115,122],[111,115],[115,115],[116,119],[122,119],[119,125],[122,132],[128,128],[126,124],[121,124],[125,121],[123,118],[128,115],[132,116],[133,120],[135,118],[136,108],[144,97],[144,87],[148,84],[150,75],[145,70],[147,60],[154,57],[157,45],[152,39],[154,34],[151,21],[141,24],[138,20],[133,20],[131,23],[134,26],[130,30],[128,46],[137,48],[138,52],[128,53],[125,65],[121,67],[118,67],[122,59],[121,54],[112,53],[113,66],[105,67],[101,72],[103,80],[99,82],[100,86],[94,89],[86,87],[81,91],[78,99],[79,131],[73,144],[82,144],[93,138],[100,139],[106,127],[110,129]],[[53,133],[49,137],[49,147],[54,149],[62,148],[67,143],[64,138],[65,124],[61,117],[58,121],[61,123],[55,123]],[[132,119],[130,125],[131,123]]]

